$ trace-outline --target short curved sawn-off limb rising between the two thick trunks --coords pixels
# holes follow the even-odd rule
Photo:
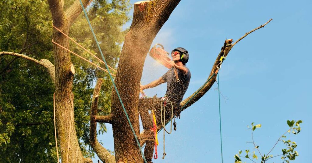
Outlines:
[[[101,146],[100,142],[96,138],[96,113],[97,113],[97,105],[99,100],[99,94],[101,90],[101,85],[103,83],[103,79],[99,78],[96,82],[94,91],[93,91],[93,98],[92,98],[92,104],[91,104],[91,113],[90,113],[90,145],[94,149],[95,153],[101,161],[105,163],[115,163],[115,157],[110,154],[107,149],[105,149],[103,146]],[[109,116],[107,116],[109,117]]]

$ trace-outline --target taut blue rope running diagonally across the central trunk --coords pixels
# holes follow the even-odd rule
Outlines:
[[[114,88],[115,88],[115,90],[116,90],[116,93],[117,93],[117,96],[118,96],[119,101],[120,101],[120,103],[121,103],[121,106],[122,106],[122,108],[124,109],[124,113],[126,114],[127,120],[128,120],[128,122],[129,122],[129,125],[130,125],[130,127],[131,127],[131,130],[132,130],[132,132],[133,132],[134,138],[135,138],[135,140],[136,140],[136,142],[137,142],[137,144],[138,144],[138,146],[139,146],[139,148],[140,148],[140,151],[141,151],[143,160],[144,160],[145,163],[147,163],[147,161],[146,161],[146,159],[145,159],[145,157],[144,157],[144,153],[142,152],[142,149],[141,149],[141,146],[140,146],[138,137],[136,136],[136,134],[135,134],[135,132],[134,132],[134,129],[133,129],[132,124],[131,124],[131,122],[130,122],[130,119],[129,119],[129,116],[128,116],[128,114],[127,114],[127,111],[126,111],[126,109],[124,108],[124,103],[122,103],[122,100],[121,100],[121,98],[120,98],[119,92],[118,92],[117,87],[116,87],[116,84],[115,84],[114,79],[113,79],[113,77],[112,77],[112,75],[111,75],[111,73],[110,73],[110,69],[109,69],[108,66],[107,66],[107,63],[106,63],[106,60],[105,60],[104,55],[103,55],[103,53],[102,53],[102,50],[101,50],[101,48],[100,48],[99,42],[98,42],[97,39],[96,39],[95,33],[94,33],[93,28],[92,28],[92,26],[91,26],[91,23],[90,23],[90,21],[89,21],[87,12],[85,11],[85,7],[83,6],[81,0],[79,0],[79,1],[80,1],[80,5],[81,5],[81,7],[82,7],[82,10],[83,10],[83,12],[85,13],[85,17],[86,17],[86,19],[87,19],[87,21],[88,21],[88,23],[89,23],[89,26],[90,26],[91,32],[92,32],[92,34],[93,34],[94,40],[95,40],[95,42],[96,42],[96,44],[97,44],[97,46],[98,46],[98,48],[99,48],[99,50],[100,50],[102,59],[103,59],[103,61],[105,62],[105,67],[106,67],[106,69],[107,69],[107,71],[108,71],[108,73],[109,73],[109,75],[110,75],[110,80],[112,81],[112,83],[113,83],[113,85],[114,85]]]

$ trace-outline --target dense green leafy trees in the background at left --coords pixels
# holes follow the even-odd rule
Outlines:
[[[68,8],[74,0],[65,1]],[[0,51],[28,55],[54,63],[52,52],[52,20],[46,1],[0,1]],[[115,67],[129,21],[129,0],[93,1],[88,9],[100,46],[108,64]],[[86,49],[100,56],[83,14],[70,28],[70,36]],[[71,50],[99,64],[75,44]],[[104,78],[99,99],[99,114],[110,112],[111,82],[107,74],[76,56],[71,58],[76,74],[75,122],[77,137],[84,156],[94,156],[89,149],[90,103],[98,77]],[[56,162],[53,124],[54,84],[44,68],[13,56],[0,56],[0,160],[4,162]],[[106,132],[98,124],[100,134]]]

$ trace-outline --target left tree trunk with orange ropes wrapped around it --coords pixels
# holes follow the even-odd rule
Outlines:
[[[83,0],[83,2],[87,4],[89,1]],[[71,23],[76,19],[77,14],[79,14],[76,12],[76,10],[79,10],[76,5],[77,0],[67,10],[67,14],[63,10],[63,0],[48,0],[48,3],[53,25],[68,35]],[[81,12],[81,10],[79,11]],[[68,38],[56,29],[53,29],[53,40],[61,46],[69,48]],[[73,105],[72,86],[75,71],[71,63],[70,53],[53,44],[53,54],[55,60],[56,129],[58,142],[61,147],[62,162],[85,162],[86,159],[83,158],[78,144],[74,112],[71,109]],[[69,131],[69,129],[71,130]],[[69,134],[71,137],[69,137]],[[68,146],[69,150],[67,150]],[[67,154],[68,160],[66,157]]]

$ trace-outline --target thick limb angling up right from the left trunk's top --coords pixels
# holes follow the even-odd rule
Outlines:
[[[89,4],[89,2],[91,2],[92,0],[81,0],[81,1],[82,1],[83,6],[86,7]],[[76,0],[71,5],[71,7],[69,7],[65,12],[69,26],[71,26],[71,24],[76,20],[76,18],[79,16],[81,12],[82,12],[82,7],[80,5],[80,1]]]

